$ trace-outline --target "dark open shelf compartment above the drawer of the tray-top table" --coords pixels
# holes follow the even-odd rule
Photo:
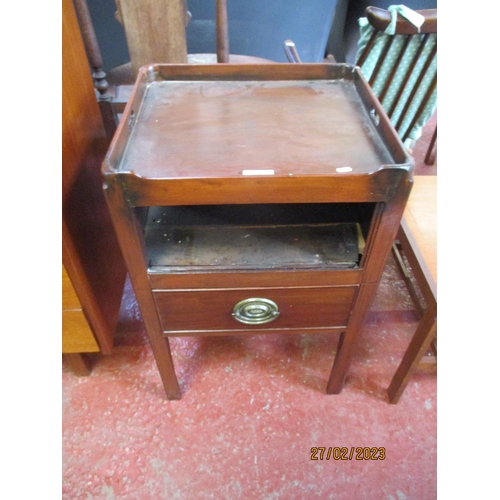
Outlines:
[[[373,205],[150,207],[149,272],[357,268]]]

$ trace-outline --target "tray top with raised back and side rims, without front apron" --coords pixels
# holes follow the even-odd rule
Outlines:
[[[318,75],[327,79],[311,81]],[[108,160],[111,169],[143,178],[409,166],[413,160],[378,107],[348,65],[156,65],[141,71]]]

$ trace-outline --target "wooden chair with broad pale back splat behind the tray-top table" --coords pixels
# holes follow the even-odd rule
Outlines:
[[[102,56],[86,0],[74,0],[85,50],[96,88],[107,136],[111,140],[125,109],[137,71],[149,63],[266,64],[260,57],[229,53],[226,0],[216,2],[216,54],[187,54],[186,26],[190,20],[186,0],[116,0],[117,20],[123,25],[131,61],[103,71]],[[161,33],[161,36],[158,34]],[[109,84],[108,84],[109,80]]]

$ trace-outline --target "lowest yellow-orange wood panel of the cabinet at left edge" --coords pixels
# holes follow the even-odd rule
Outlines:
[[[62,352],[98,352],[99,346],[80,309],[62,312]]]

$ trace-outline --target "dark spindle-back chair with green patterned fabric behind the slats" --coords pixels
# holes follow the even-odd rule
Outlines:
[[[388,34],[391,12],[368,7],[366,18],[360,20],[356,57],[356,64],[410,148],[437,105],[437,9],[415,12],[423,16],[419,28],[397,13],[390,30],[394,34]],[[434,162],[436,140],[437,130],[426,154],[427,164]]]

